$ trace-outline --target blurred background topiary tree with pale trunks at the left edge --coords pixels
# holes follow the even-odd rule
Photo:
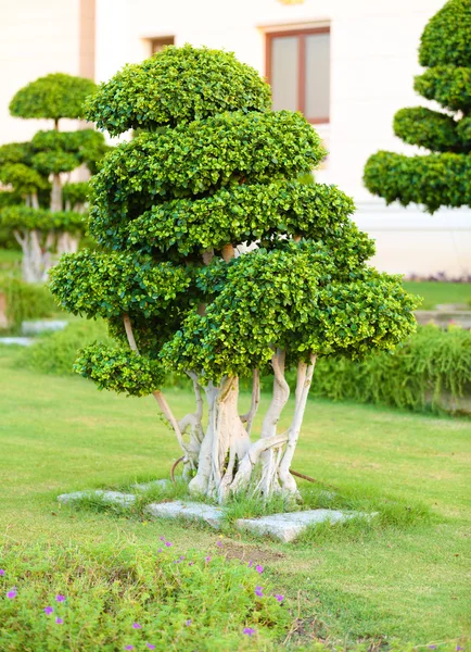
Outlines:
[[[80,165],[96,172],[107,148],[102,134],[60,131],[59,122],[80,118],[85,98],[94,90],[90,79],[56,73],[28,84],[10,103],[12,115],[54,122],[54,129],[38,131],[30,142],[0,147],[1,193],[8,198],[0,201],[0,223],[22,247],[27,281],[47,279],[54,253],[77,251],[88,184],[64,186],[64,176]]]

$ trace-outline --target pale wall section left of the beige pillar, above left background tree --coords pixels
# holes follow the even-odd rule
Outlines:
[[[37,77],[79,74],[78,18],[79,0],[0,0],[0,143],[49,128],[49,121],[12,117],[9,102]]]

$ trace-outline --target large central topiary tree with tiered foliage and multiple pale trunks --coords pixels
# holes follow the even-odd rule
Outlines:
[[[142,131],[92,179],[102,249],[51,272],[62,308],[104,317],[118,342],[82,349],[76,371],[100,389],[154,396],[192,492],[296,494],[290,466],[317,358],[394,349],[416,327],[415,298],[366,265],[374,248],[349,218],[353,201],[300,180],[324,155],[318,135],[300,113],[270,111],[269,87],[233,54],[167,48],[104,84],[88,115],[114,135]],[[293,416],[279,431],[289,368]],[[168,372],[193,381],[196,408],[181,419],[162,391]],[[262,374],[273,393],[252,441]]]

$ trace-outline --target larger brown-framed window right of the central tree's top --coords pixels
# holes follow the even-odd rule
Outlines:
[[[329,27],[268,33],[266,46],[273,110],[301,111],[310,123],[328,123]]]

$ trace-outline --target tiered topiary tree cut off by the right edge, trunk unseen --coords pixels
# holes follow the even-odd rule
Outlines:
[[[449,0],[425,26],[419,62],[427,66],[415,89],[446,113],[413,106],[394,116],[394,133],[408,145],[430,150],[406,156],[380,151],[365,166],[364,181],[387,203],[471,205],[471,2]]]

